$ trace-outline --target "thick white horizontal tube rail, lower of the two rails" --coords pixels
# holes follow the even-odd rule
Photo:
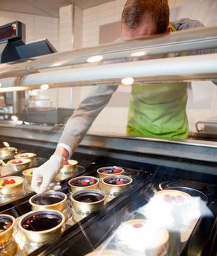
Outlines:
[[[122,78],[134,83],[158,83],[190,80],[217,80],[217,53],[167,59],[118,63],[95,67],[42,72],[26,75],[17,84],[15,78],[1,79],[0,92],[50,89],[72,86],[117,85]],[[84,75],[85,74],[85,75]]]

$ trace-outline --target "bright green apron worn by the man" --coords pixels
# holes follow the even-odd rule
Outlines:
[[[174,31],[174,28],[172,28]],[[133,85],[127,135],[151,138],[187,138],[187,83]]]

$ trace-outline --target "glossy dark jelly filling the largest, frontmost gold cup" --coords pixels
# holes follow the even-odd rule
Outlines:
[[[39,214],[24,219],[22,227],[25,230],[43,231],[50,230],[60,224],[62,219],[56,214]]]

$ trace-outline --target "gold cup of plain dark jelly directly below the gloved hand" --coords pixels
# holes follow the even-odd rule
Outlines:
[[[33,195],[29,203],[34,211],[52,209],[63,211],[67,207],[67,196],[63,192],[52,191]]]

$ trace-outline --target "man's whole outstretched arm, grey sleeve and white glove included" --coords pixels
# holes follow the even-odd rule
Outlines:
[[[50,159],[33,171],[31,187],[36,193],[50,189],[50,184],[58,175],[66,159],[71,157],[84,138],[92,122],[106,106],[118,86],[98,86],[79,105],[68,119],[55,153]],[[60,186],[52,186],[58,189]]]

